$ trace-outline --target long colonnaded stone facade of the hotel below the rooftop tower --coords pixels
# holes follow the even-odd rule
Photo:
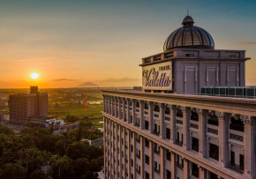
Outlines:
[[[106,179],[256,178],[256,101],[103,91]]]

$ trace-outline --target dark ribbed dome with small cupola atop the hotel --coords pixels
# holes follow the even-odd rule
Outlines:
[[[175,30],[168,36],[163,45],[163,50],[173,48],[205,48],[214,49],[215,42],[206,30],[199,26],[193,26],[194,21],[191,16],[186,16],[182,22],[182,27]]]

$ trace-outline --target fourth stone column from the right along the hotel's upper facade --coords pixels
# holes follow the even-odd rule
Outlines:
[[[183,147],[186,150],[190,150],[190,135],[189,135],[189,120],[191,117],[191,108],[181,107],[183,112]]]

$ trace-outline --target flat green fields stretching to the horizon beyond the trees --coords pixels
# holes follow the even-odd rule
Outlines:
[[[102,91],[95,88],[39,88],[41,93],[49,95],[49,116],[65,119],[65,116],[89,117],[97,127],[102,127],[102,104],[84,105],[87,101],[102,101]],[[0,94],[9,96],[14,93],[29,93],[29,89],[0,89]],[[78,104],[78,102],[80,104]],[[61,107],[54,107],[54,104]],[[1,108],[1,110],[9,110]]]

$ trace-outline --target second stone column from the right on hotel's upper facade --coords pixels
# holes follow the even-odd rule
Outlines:
[[[228,128],[229,116],[226,113],[215,112],[215,116],[219,120],[218,136],[219,136],[219,162],[224,167],[229,166],[229,145],[228,145]]]

